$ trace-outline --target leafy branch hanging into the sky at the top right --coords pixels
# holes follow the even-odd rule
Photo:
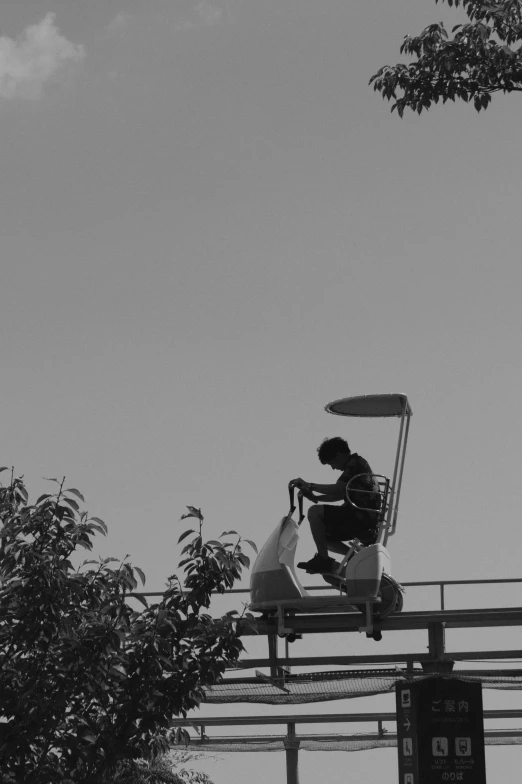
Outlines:
[[[420,114],[433,102],[455,98],[473,100],[480,111],[494,92],[522,91],[521,0],[444,1],[462,6],[469,23],[455,25],[453,37],[442,22],[407,35],[400,51],[414,62],[386,65],[370,79],[400,117],[406,108]]]

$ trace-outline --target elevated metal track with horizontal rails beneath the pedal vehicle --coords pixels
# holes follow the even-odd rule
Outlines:
[[[500,664],[506,659],[522,660],[522,649],[520,650],[475,650],[475,651],[447,651],[445,644],[445,630],[447,628],[471,628],[471,627],[497,627],[497,626],[522,626],[522,607],[494,607],[485,609],[447,609],[447,592],[453,586],[462,585],[519,585],[522,578],[503,578],[493,580],[429,580],[404,583],[408,588],[438,588],[439,608],[435,610],[419,612],[403,612],[389,616],[382,621],[382,629],[387,631],[401,631],[406,629],[425,629],[428,632],[428,652],[419,653],[411,650],[404,653],[394,654],[368,654],[356,656],[290,656],[290,646],[288,638],[284,640],[285,651],[283,655],[278,653],[277,619],[259,618],[248,624],[240,624],[240,633],[244,636],[266,635],[268,640],[268,657],[264,658],[243,658],[239,661],[238,667],[243,670],[254,670],[256,668],[266,668],[268,674],[256,673],[254,677],[227,677],[226,683],[236,683],[245,685],[252,682],[259,683],[260,678],[282,687],[284,690],[285,682],[288,683],[291,677],[291,667],[327,666],[327,667],[354,667],[368,665],[390,665],[394,670],[402,669],[408,674],[427,674],[427,673],[449,673],[458,661],[473,660],[488,661],[496,660]],[[324,590],[322,586],[310,586],[308,591]],[[248,593],[248,589],[233,588],[227,591],[230,594]],[[140,596],[161,597],[162,592],[144,593]],[[511,592],[511,596],[513,592]],[[355,632],[360,628],[360,614],[351,613],[323,613],[322,615],[300,615],[291,619],[292,627],[296,633],[317,634],[323,632]],[[421,669],[415,665],[421,666]],[[402,667],[398,667],[402,665]],[[235,668],[238,672],[238,668]],[[349,670],[344,671],[349,672]],[[364,677],[365,672],[368,676],[372,675],[371,670],[359,670],[358,675]],[[455,671],[458,673],[458,671]],[[328,672],[320,673],[327,676]],[[333,673],[330,673],[333,675]],[[492,675],[517,675],[522,681],[522,667],[519,670],[499,670],[489,667],[486,671],[475,671],[477,676],[480,674]],[[522,718],[522,710],[487,710],[484,712],[486,720],[494,719],[515,719]],[[386,745],[393,746],[396,741],[396,734],[388,732],[383,727],[385,722],[396,722],[395,713],[338,713],[338,714],[292,714],[292,715],[266,715],[266,716],[227,716],[227,717],[208,717],[173,719],[173,726],[191,725],[199,730],[199,738],[193,742],[193,747],[197,749],[201,746],[211,745],[216,751],[223,748],[226,744],[244,744],[245,750],[248,743],[256,741],[282,742],[286,757],[286,781],[287,784],[298,784],[298,754],[299,747],[303,740],[316,740],[322,742],[343,740],[343,741],[364,741],[386,740]],[[373,723],[376,730],[373,733],[358,733],[354,735],[326,735],[326,734],[302,734],[297,731],[298,725],[326,724],[326,723]],[[279,736],[259,736],[242,735],[228,737],[208,737],[206,729],[219,726],[255,726],[255,725],[286,725],[286,734]],[[514,743],[520,742],[522,738],[521,729],[495,730],[486,729],[486,743],[502,743],[502,738],[512,739]],[[379,745],[379,744],[377,744]],[[381,743],[380,745],[384,745]]]

